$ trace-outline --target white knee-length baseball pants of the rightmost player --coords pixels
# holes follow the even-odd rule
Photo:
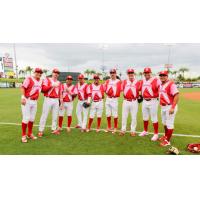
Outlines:
[[[169,110],[171,109],[171,105],[161,106],[161,117],[163,125],[167,126],[168,129],[174,129],[174,120],[176,113],[178,111],[178,106],[174,109],[174,114],[169,114]]]

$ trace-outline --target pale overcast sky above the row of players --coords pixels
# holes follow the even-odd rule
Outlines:
[[[13,44],[0,44],[0,56],[5,53],[13,57]],[[137,72],[151,66],[157,72],[168,63],[168,54],[169,46],[166,44],[16,44],[19,68],[58,67],[61,71],[76,72],[87,68],[101,71],[103,63],[107,70],[117,66],[122,73],[129,66]],[[200,44],[173,44],[170,55],[174,69],[187,67],[189,75],[200,75]]]

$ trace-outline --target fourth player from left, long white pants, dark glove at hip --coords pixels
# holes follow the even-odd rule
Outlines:
[[[88,98],[88,90],[87,90],[88,84],[85,83],[84,75],[80,74],[78,76],[78,83],[76,84],[74,88],[74,94],[78,95],[78,103],[76,107],[76,115],[78,119],[78,124],[76,128],[81,128],[81,132],[86,131],[86,124],[87,124],[87,116],[89,111],[89,105],[90,105],[90,98]],[[86,107],[85,105],[88,105]],[[82,118],[83,114],[83,118]]]

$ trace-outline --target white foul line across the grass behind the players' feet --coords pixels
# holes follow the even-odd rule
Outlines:
[[[19,123],[9,123],[9,122],[0,122],[0,125],[21,126],[21,124],[19,124]],[[39,126],[39,125],[35,124],[34,126]],[[51,126],[50,125],[46,125],[46,127],[51,127]],[[63,127],[63,128],[66,128],[66,127]],[[75,129],[75,127],[71,127],[71,128]],[[96,129],[91,128],[91,130],[96,130]],[[105,129],[100,129],[100,131],[105,131]],[[130,132],[130,131],[127,131],[127,132]],[[136,133],[141,133],[141,132],[136,131]],[[149,133],[149,134],[153,135],[153,133]],[[159,133],[159,134],[164,135],[164,133]],[[173,136],[200,138],[200,135],[189,135],[189,134],[178,134],[178,133],[173,134]]]

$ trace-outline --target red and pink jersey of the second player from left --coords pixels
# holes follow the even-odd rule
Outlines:
[[[53,87],[53,83],[58,83],[57,87]],[[58,80],[52,78],[46,78],[42,84],[42,91],[45,97],[49,98],[60,98],[62,93],[62,84]]]

